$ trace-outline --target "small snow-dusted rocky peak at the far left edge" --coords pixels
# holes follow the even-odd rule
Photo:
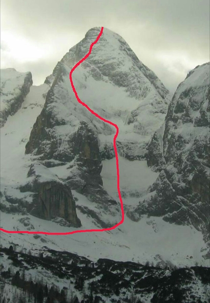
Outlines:
[[[20,109],[32,83],[30,72],[20,73],[14,68],[0,70],[0,127],[9,115],[14,115]]]

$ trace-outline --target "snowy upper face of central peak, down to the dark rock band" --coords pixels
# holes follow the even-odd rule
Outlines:
[[[63,64],[70,70],[80,61],[99,33],[99,27],[90,29],[85,38],[58,62],[46,82],[52,83],[53,79],[57,82]],[[76,68],[72,78],[80,99],[99,115],[119,125],[118,149],[122,156],[131,160],[144,158],[150,136],[164,121],[169,94],[156,75],[138,60],[126,41],[104,29],[90,56]],[[69,85],[69,80],[65,83]],[[70,99],[74,100],[74,96]],[[77,111],[80,113],[83,111],[81,107],[79,104]],[[97,131],[107,135],[101,128]],[[111,145],[111,137],[100,138],[103,157],[113,154]]]

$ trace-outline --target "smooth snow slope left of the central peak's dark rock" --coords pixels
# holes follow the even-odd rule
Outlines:
[[[20,198],[32,202],[31,193],[20,193],[17,187],[28,182],[27,172],[31,165],[29,156],[24,155],[25,143],[30,136],[31,128],[40,114],[44,95],[49,86],[31,86],[29,94],[23,101],[20,110],[8,117],[7,123],[0,130],[0,191],[1,207],[9,205],[8,201]],[[7,197],[5,199],[5,196]],[[9,200],[9,197],[11,200]],[[7,202],[6,202],[7,201]],[[18,206],[17,206],[18,208]]]

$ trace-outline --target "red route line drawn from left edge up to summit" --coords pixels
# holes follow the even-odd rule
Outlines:
[[[118,190],[118,194],[119,194],[119,199],[120,199],[120,203],[121,203],[121,211],[122,211],[122,220],[117,223],[116,225],[112,226],[112,227],[109,227],[109,228],[103,228],[103,229],[85,229],[85,230],[74,230],[74,231],[71,231],[71,232],[67,232],[67,233],[49,233],[49,232],[44,232],[44,231],[9,231],[9,230],[6,230],[6,229],[3,229],[3,228],[0,228],[1,231],[5,232],[5,233],[11,233],[11,234],[44,234],[44,235],[70,235],[70,234],[76,234],[76,233],[84,233],[84,232],[92,232],[92,231],[107,231],[107,230],[112,230],[112,229],[115,229],[117,226],[119,226],[120,224],[122,224],[124,222],[124,217],[125,217],[125,214],[124,214],[124,209],[123,209],[123,200],[122,200],[122,196],[121,196],[121,192],[120,192],[120,171],[119,171],[119,160],[118,160],[118,154],[117,154],[117,146],[116,146],[116,139],[117,139],[117,136],[119,134],[119,128],[117,126],[117,124],[111,122],[111,121],[108,121],[106,119],[104,119],[103,117],[99,116],[97,113],[95,113],[91,108],[89,108],[89,106],[87,104],[85,104],[83,101],[80,100],[78,94],[77,94],[77,91],[74,87],[74,83],[73,83],[73,80],[72,80],[72,73],[73,71],[85,60],[89,57],[89,55],[91,54],[91,51],[92,51],[92,48],[93,48],[93,45],[96,44],[98,42],[98,40],[100,39],[100,37],[102,36],[102,33],[103,33],[103,30],[104,30],[104,27],[101,28],[101,31],[97,37],[97,39],[91,43],[90,45],[90,49],[89,49],[89,52],[84,56],[83,59],[81,59],[73,68],[72,70],[70,71],[69,73],[69,80],[71,82],[71,86],[72,86],[72,89],[73,89],[73,92],[77,98],[77,101],[79,103],[81,103],[83,106],[85,106],[93,115],[95,115],[97,118],[101,119],[102,121],[106,122],[106,123],[109,123],[110,125],[114,126],[116,128],[116,134],[114,136],[114,139],[113,139],[113,145],[114,145],[114,151],[115,151],[115,157],[116,157],[116,168],[117,168],[117,190]]]

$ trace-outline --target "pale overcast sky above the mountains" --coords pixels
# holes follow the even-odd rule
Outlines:
[[[171,92],[209,61],[209,0],[1,0],[1,68],[39,85],[95,26],[120,34]]]

